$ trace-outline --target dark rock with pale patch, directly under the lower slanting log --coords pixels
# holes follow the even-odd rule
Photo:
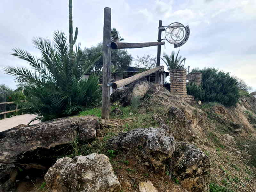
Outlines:
[[[129,87],[124,89],[116,90],[111,94],[110,101],[115,102],[119,100],[123,106],[131,105],[133,100],[140,100],[145,96],[149,89],[148,81],[146,78],[141,78],[134,81]]]

